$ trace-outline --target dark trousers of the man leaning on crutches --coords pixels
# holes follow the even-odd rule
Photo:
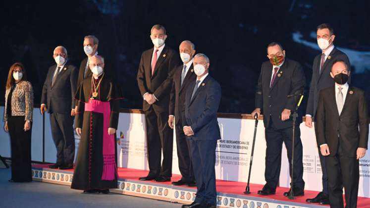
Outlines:
[[[267,184],[276,189],[279,182],[281,168],[281,148],[283,143],[288,152],[289,173],[291,173],[292,161],[292,128],[276,129],[270,120],[269,127],[265,128],[266,157],[264,178]],[[299,126],[295,127],[294,135],[294,161],[293,161],[293,185],[299,189],[305,188],[303,181],[303,147],[301,142],[301,131]]]

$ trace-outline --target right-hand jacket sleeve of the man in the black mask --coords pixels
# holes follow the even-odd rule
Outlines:
[[[368,123],[368,104],[366,102],[365,93],[359,95],[359,129],[360,141],[359,147],[368,149],[369,140],[369,123]]]

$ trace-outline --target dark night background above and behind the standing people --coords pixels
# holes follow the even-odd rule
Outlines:
[[[280,42],[287,57],[303,65],[309,85],[312,62],[319,51],[295,42],[292,34],[300,32],[302,39],[315,43],[312,32],[317,25],[329,23],[337,47],[354,50],[358,57],[369,60],[369,55],[362,55],[370,52],[369,8],[367,0],[2,1],[0,90],[4,92],[10,65],[20,61],[34,87],[35,103],[40,103],[47,70],[54,64],[53,49],[63,45],[69,61],[79,66],[86,57],[83,37],[93,34],[100,40],[99,53],[109,60],[109,70],[124,91],[122,107],[141,108],[136,83],[139,59],[141,52],[153,47],[149,38],[152,25],[162,24],[167,30],[167,46],[177,50],[181,41],[190,40],[197,52],[210,57],[211,75],[222,87],[219,112],[250,113],[270,42]],[[370,98],[370,66],[361,72],[356,72],[356,67],[352,66],[352,82]]]

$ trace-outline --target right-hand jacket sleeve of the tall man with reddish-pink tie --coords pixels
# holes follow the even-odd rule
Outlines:
[[[167,79],[165,79],[153,93],[158,100],[160,100],[163,96],[168,95],[170,93],[173,76],[172,71],[174,71],[175,67],[179,65],[179,60],[180,60],[179,55],[176,52],[173,52],[172,56],[168,61]]]

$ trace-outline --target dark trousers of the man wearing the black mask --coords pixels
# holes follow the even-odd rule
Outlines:
[[[331,208],[343,208],[343,187],[345,190],[346,208],[357,207],[359,191],[359,160],[356,157],[344,156],[339,147],[335,156],[326,156],[328,173],[329,201]]]

